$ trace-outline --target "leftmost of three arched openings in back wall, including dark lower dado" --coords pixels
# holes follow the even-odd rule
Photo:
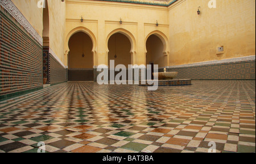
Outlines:
[[[84,32],[77,32],[68,42],[68,81],[93,81],[93,42]]]

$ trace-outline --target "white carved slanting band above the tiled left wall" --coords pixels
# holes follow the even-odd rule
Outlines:
[[[43,46],[43,38],[36,32],[32,25],[27,21],[24,15],[14,5],[11,0],[0,0],[0,5],[5,8],[40,45]]]

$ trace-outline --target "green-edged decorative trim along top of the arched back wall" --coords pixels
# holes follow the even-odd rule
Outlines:
[[[171,2],[168,3],[168,4],[166,4],[166,3],[156,3],[156,2],[129,1],[129,0],[95,0],[95,1],[122,2],[122,3],[138,4],[138,5],[152,5],[152,6],[164,6],[164,7],[168,7],[168,6],[172,5],[172,3],[174,3],[174,2],[176,2],[176,1],[178,1],[178,0],[171,1]]]

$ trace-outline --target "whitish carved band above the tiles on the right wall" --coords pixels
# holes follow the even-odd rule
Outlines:
[[[248,57],[223,59],[220,61],[208,61],[208,62],[200,62],[200,63],[192,63],[192,64],[183,64],[179,66],[169,66],[167,68],[198,67],[198,66],[206,66],[206,65],[212,65],[212,64],[226,64],[226,63],[248,62],[248,61],[255,61],[255,55],[248,56]]]

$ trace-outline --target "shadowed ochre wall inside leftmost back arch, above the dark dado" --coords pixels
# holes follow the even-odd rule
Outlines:
[[[83,38],[84,41],[82,40]],[[84,45],[84,48],[82,45]],[[92,48],[92,40],[88,34],[84,32],[73,34],[69,40],[69,68],[93,68]],[[84,58],[82,58],[83,51]]]

